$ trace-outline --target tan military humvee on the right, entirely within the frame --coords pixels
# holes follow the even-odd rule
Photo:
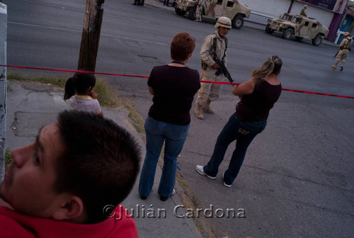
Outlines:
[[[314,18],[284,13],[279,19],[268,19],[265,32],[272,34],[275,30],[282,33],[282,38],[290,40],[295,35],[295,40],[302,38],[312,39],[312,45],[320,45],[322,38],[327,37],[329,29]]]

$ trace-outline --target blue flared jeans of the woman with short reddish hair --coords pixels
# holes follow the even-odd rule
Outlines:
[[[147,135],[147,154],[140,174],[140,196],[147,197],[152,191],[156,166],[164,142],[164,167],[157,192],[163,197],[171,196],[176,181],[177,157],[183,148],[189,125],[165,123],[148,116],[144,128]]]

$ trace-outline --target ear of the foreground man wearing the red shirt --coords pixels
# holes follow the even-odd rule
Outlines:
[[[84,203],[78,196],[70,196],[67,200],[64,200],[64,203],[59,205],[52,214],[52,219],[54,220],[84,222],[85,218]]]

